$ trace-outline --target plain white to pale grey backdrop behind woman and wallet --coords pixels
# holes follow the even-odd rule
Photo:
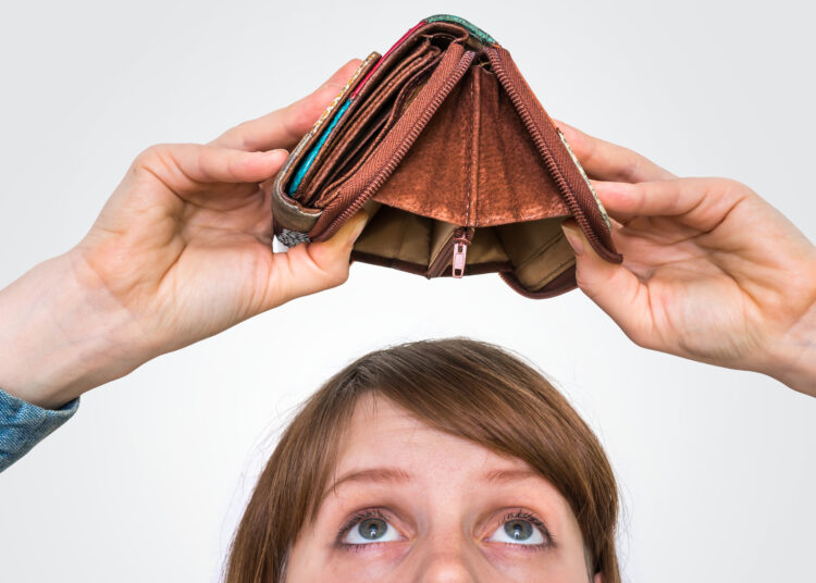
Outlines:
[[[438,12],[507,47],[554,116],[744,182],[816,240],[814,12],[763,4],[4,3],[0,287],[78,241],[145,147],[207,141]],[[218,581],[292,409],[368,350],[455,334],[532,359],[597,431],[626,581],[812,580],[816,399],[639,348],[579,290],[530,300],[496,275],[366,264],[84,396],[0,475],[0,579]]]

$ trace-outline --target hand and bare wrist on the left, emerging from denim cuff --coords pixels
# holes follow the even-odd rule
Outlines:
[[[143,151],[75,248],[0,292],[0,386],[53,407],[158,355],[343,283],[366,216],[330,240],[273,253],[270,195],[285,149],[359,63],[207,145]]]

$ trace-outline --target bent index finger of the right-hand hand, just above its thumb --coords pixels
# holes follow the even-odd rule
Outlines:
[[[676,216],[701,231],[714,228],[747,189],[726,178],[677,178],[638,184],[593,181],[607,213],[623,224],[635,216]]]

